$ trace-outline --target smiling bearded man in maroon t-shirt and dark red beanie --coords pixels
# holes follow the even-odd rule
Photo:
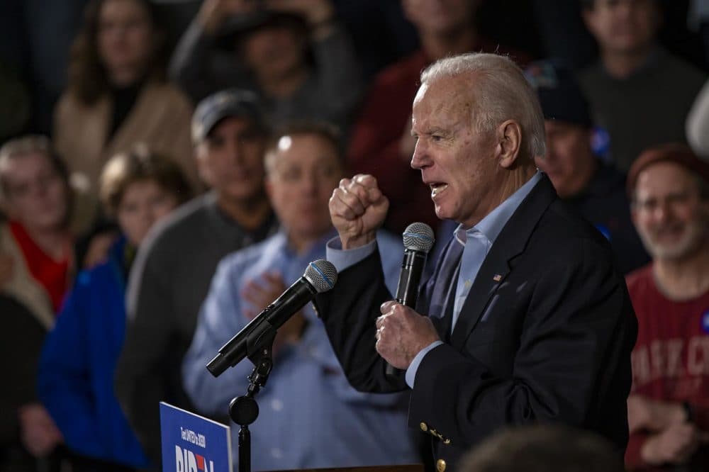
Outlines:
[[[709,162],[646,150],[628,175],[653,262],[627,277],[638,335],[628,398],[630,469],[709,470]]]

